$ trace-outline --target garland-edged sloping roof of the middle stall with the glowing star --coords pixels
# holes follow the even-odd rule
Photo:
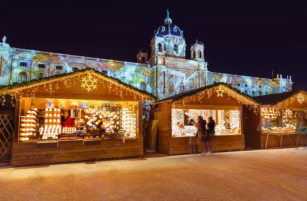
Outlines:
[[[260,105],[260,101],[257,101],[255,99],[253,99],[250,95],[247,95],[245,93],[242,93],[241,91],[231,87],[230,84],[227,84],[227,83],[224,83],[224,82],[218,82],[216,84],[211,84],[211,85],[208,85],[208,86],[205,86],[205,87],[200,87],[200,88],[197,88],[197,89],[193,89],[193,90],[190,90],[190,91],[185,91],[185,92],[182,92],[180,94],[177,94],[177,95],[173,95],[173,96],[170,96],[168,98],[165,98],[165,99],[162,99],[162,100],[159,100],[157,102],[155,102],[156,104],[157,103],[162,103],[162,102],[169,102],[169,101],[177,101],[177,100],[181,100],[185,97],[188,97],[188,96],[192,96],[192,95],[196,95],[197,93],[199,92],[202,92],[202,91],[205,91],[206,89],[211,89],[211,88],[217,88],[219,86],[223,86],[223,87],[226,87],[228,88],[229,90],[237,93],[238,95],[240,96],[243,96],[249,100],[251,100],[252,102],[254,102],[256,105]]]

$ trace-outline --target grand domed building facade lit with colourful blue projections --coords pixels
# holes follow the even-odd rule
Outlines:
[[[0,85],[95,68],[157,96],[158,99],[203,87],[216,82],[231,84],[251,96],[292,91],[292,80],[277,75],[274,79],[231,75],[208,70],[204,45],[196,40],[191,47],[191,60],[185,59],[183,31],[172,24],[169,14],[151,40],[151,55],[137,54],[137,62],[115,61],[53,52],[11,48],[3,37],[0,43]],[[188,46],[189,47],[189,46]]]

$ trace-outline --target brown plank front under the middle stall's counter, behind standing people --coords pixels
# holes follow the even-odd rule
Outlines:
[[[244,149],[244,135],[211,136],[212,151]],[[198,144],[198,151],[204,152],[204,144]],[[173,137],[169,142],[169,154],[190,153],[189,137]]]

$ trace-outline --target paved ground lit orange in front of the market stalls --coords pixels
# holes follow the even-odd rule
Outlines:
[[[307,147],[2,168],[3,200],[306,201]]]

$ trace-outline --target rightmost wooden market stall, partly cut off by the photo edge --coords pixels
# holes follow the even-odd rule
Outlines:
[[[307,145],[307,92],[290,91],[254,97],[260,113],[243,108],[245,145],[268,149]]]

